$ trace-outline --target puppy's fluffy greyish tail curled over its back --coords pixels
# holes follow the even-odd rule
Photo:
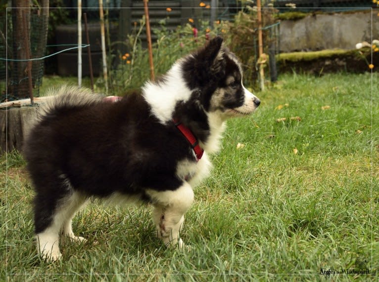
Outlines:
[[[52,88],[47,93],[51,96],[40,106],[39,116],[44,117],[53,110],[65,107],[81,107],[100,102],[104,96],[92,93],[88,88],[63,85],[58,89]]]

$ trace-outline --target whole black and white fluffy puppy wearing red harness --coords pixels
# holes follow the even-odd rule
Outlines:
[[[41,107],[24,156],[36,191],[35,233],[47,260],[59,238],[84,241],[71,222],[90,198],[151,203],[158,237],[183,247],[179,233],[193,187],[208,175],[225,121],[260,101],[242,84],[237,57],[216,37],[178,60],[142,94],[117,103],[62,87]]]

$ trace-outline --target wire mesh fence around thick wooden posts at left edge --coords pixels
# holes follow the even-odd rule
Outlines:
[[[26,30],[15,15],[0,18],[0,102],[28,98],[30,88],[39,96],[44,75],[44,60],[39,58],[46,54],[48,21],[31,13],[25,22]]]

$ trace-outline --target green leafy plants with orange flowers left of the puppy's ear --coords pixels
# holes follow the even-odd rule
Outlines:
[[[117,69],[112,70],[111,87],[114,93],[125,94],[130,90],[138,89],[149,80],[148,50],[142,46],[141,33],[144,28],[144,18],[138,23],[134,23],[133,32],[125,42],[130,52],[118,54],[121,62]],[[209,22],[200,21],[199,27],[194,31],[194,27],[188,23],[178,26],[175,30],[168,30],[165,20],[160,22],[160,28],[153,29],[158,40],[153,43],[154,73],[159,78],[166,73],[172,64],[189,54],[193,50],[203,46],[209,38],[221,34],[223,25],[218,22],[211,30]],[[119,42],[114,42],[118,44]],[[97,81],[97,85],[102,84],[102,79]]]

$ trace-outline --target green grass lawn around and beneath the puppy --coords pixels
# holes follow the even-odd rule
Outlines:
[[[25,163],[2,156],[0,280],[375,281],[336,272],[378,275],[378,85],[378,73],[291,74],[257,93],[260,108],[228,122],[213,174],[195,190],[190,251],[162,246],[149,208],[95,202],[73,222],[89,242],[41,261]]]

